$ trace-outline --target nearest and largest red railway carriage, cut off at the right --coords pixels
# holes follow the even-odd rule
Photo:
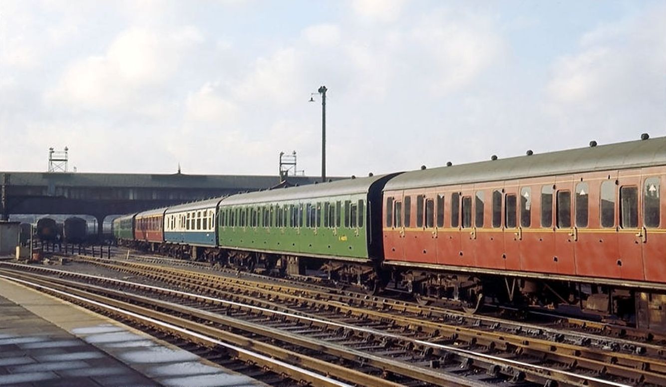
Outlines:
[[[424,298],[484,295],[666,327],[666,138],[404,173],[384,265]]]

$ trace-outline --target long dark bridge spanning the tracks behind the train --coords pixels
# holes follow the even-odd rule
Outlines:
[[[337,180],[340,178],[332,178]],[[308,185],[319,177],[122,173],[0,172],[0,215],[82,214],[104,218],[192,200],[259,191],[281,185]]]

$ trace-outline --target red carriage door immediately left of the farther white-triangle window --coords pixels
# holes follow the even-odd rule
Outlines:
[[[574,246],[578,240],[575,223],[575,191],[572,177],[555,181],[555,254],[553,263],[558,274],[575,274]]]

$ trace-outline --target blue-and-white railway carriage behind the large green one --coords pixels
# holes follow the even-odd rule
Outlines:
[[[165,212],[165,242],[172,256],[208,256],[217,245],[216,213],[222,198],[169,207]],[[192,251],[192,248],[198,249]]]

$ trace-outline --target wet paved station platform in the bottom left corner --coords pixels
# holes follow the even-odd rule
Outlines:
[[[0,278],[0,387],[257,385],[143,332]]]

